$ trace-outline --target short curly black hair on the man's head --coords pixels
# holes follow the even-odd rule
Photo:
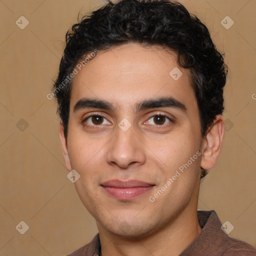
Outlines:
[[[128,42],[160,45],[177,52],[177,64],[187,68],[191,76],[202,136],[215,116],[224,110],[223,86],[228,69],[223,61],[224,54],[216,49],[207,27],[179,2],[109,1],[73,24],[66,32],[65,40],[66,46],[52,94],[57,99],[57,112],[66,137],[72,83],[72,79],[66,77],[86,54]]]

